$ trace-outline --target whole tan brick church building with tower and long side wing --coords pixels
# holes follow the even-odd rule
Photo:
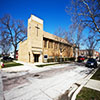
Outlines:
[[[43,20],[31,15],[27,40],[19,44],[18,60],[34,63],[57,57],[73,57],[72,45],[63,38],[43,31]]]

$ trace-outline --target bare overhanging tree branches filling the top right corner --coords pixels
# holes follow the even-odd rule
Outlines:
[[[71,0],[66,11],[71,14],[73,23],[80,23],[99,33],[100,37],[100,0]]]

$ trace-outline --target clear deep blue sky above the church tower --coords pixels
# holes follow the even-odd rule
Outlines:
[[[68,30],[71,24],[66,6],[70,0],[0,0],[0,17],[10,14],[21,19],[27,27],[31,14],[44,20],[44,31],[54,34],[59,28]]]

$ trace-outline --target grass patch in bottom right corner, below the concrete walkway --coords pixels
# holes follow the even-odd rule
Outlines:
[[[100,100],[100,92],[84,87],[77,95],[76,100]]]

